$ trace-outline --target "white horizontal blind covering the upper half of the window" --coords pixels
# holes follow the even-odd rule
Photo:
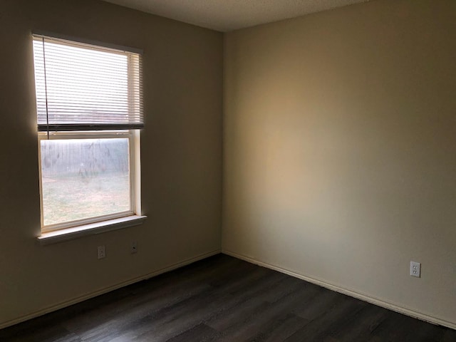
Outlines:
[[[33,35],[39,131],[143,128],[140,53]]]

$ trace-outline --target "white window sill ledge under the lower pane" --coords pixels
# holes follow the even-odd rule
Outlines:
[[[147,216],[132,215],[128,217],[120,217],[119,219],[109,219],[108,221],[83,224],[78,227],[56,230],[55,232],[46,232],[39,236],[38,242],[41,245],[56,244],[87,235],[100,234],[110,232],[111,230],[123,229],[127,227],[138,226],[142,224]]]

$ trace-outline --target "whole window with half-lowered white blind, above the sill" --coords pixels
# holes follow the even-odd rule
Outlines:
[[[141,55],[33,35],[41,232],[140,215]]]

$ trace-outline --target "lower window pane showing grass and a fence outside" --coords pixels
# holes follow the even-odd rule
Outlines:
[[[130,210],[127,138],[41,140],[44,225]]]

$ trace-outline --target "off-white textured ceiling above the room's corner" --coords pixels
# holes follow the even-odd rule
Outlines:
[[[217,31],[233,31],[369,0],[104,0]]]

